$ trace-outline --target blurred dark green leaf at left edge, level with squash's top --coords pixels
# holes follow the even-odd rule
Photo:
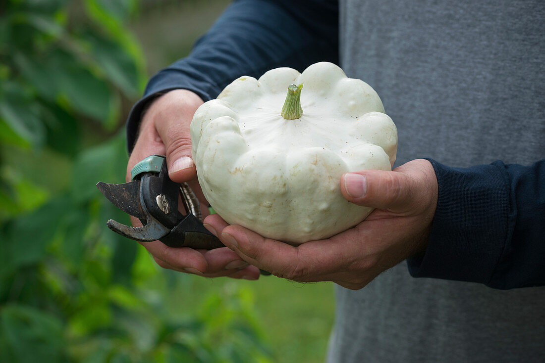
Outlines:
[[[0,87],[0,119],[23,140],[37,148],[42,146],[45,127],[33,104],[34,100],[17,83],[2,82]]]

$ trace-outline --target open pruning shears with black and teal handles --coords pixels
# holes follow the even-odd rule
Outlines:
[[[141,242],[159,240],[169,247],[208,250],[225,247],[204,228],[201,206],[189,185],[173,182],[168,177],[165,156],[143,159],[132,168],[131,179],[123,184],[96,184],[108,200],[140,219],[143,225],[126,226],[110,219],[106,225],[112,231]],[[178,211],[179,197],[187,214]]]

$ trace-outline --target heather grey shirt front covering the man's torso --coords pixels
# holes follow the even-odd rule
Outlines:
[[[341,1],[341,62],[377,90],[400,165],[545,158],[545,2]],[[545,362],[545,288],[415,279],[337,288],[328,361]]]

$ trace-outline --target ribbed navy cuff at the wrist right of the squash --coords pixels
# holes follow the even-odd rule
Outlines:
[[[488,285],[508,236],[508,178],[493,164],[450,168],[428,161],[439,186],[437,209],[426,252],[407,260],[409,273]]]

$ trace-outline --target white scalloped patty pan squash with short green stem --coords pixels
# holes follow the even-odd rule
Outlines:
[[[214,210],[295,245],[364,220],[372,209],[343,198],[342,174],[391,170],[396,159],[397,129],[377,93],[326,62],[240,77],[197,109],[190,128]]]

